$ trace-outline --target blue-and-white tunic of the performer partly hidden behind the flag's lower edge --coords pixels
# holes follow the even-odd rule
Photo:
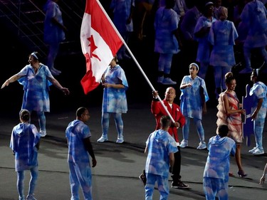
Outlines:
[[[124,70],[120,65],[114,68],[108,68],[105,71],[105,83],[119,84],[125,88],[104,88],[102,112],[127,112],[127,100],[125,91],[128,89],[128,83]]]

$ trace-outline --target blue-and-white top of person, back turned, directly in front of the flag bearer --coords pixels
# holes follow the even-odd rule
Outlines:
[[[156,130],[147,139],[145,172],[169,176],[169,153],[178,152],[177,144],[169,132]]]

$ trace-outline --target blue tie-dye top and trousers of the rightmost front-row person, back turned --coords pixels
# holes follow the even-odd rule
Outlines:
[[[203,174],[203,188],[206,199],[228,199],[230,154],[236,153],[236,142],[230,137],[216,135],[209,139],[209,155]]]

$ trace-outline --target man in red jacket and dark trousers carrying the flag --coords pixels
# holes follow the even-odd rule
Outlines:
[[[162,106],[161,102],[159,102],[157,91],[153,91],[153,100],[151,104],[151,111],[152,114],[155,115],[155,120],[157,122],[156,130],[160,128],[160,117],[162,115],[168,115],[164,107]],[[164,106],[167,107],[167,110],[172,115],[172,118],[174,119],[174,123],[172,123],[172,126],[169,127],[169,135],[172,135],[174,137],[174,140],[177,142],[177,148],[178,152],[174,153],[174,167],[172,169],[172,187],[173,188],[179,188],[179,189],[186,189],[189,186],[184,184],[181,181],[180,171],[181,171],[181,152],[179,147],[179,139],[177,135],[177,129],[179,127],[183,127],[185,123],[184,115],[182,115],[182,112],[180,110],[179,105],[174,103],[174,98],[176,97],[176,91],[174,88],[169,87],[167,88],[165,92],[165,98],[163,101]]]

